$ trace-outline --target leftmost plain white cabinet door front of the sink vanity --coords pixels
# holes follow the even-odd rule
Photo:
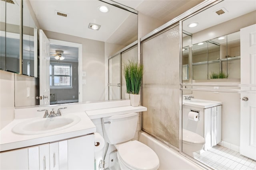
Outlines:
[[[1,170],[27,170],[28,149],[18,149],[0,153]]]

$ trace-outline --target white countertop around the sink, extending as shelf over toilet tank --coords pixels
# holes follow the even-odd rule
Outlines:
[[[121,102],[121,104],[120,104]],[[124,103],[124,104],[122,104]],[[130,101],[118,101],[118,102],[105,102],[96,104],[85,104],[85,105],[68,105],[68,109],[62,111],[62,116],[76,115],[80,117],[80,121],[75,125],[67,127],[66,129],[59,129],[57,131],[48,131],[47,133],[33,134],[33,135],[20,135],[14,133],[12,129],[22,122],[33,121],[35,118],[42,118],[43,114],[37,109],[42,108],[24,108],[16,109],[16,114],[11,123],[4,127],[0,131],[0,151],[19,149],[23,147],[30,147],[35,145],[41,145],[44,143],[51,143],[55,141],[65,140],[72,137],[79,137],[82,135],[90,134],[96,132],[96,127],[92,123],[91,119],[98,119],[102,117],[109,117],[112,115],[120,115],[132,112],[146,111],[147,108],[143,106],[132,107],[127,106]],[[127,104],[127,105],[126,105]],[[88,105],[88,106],[87,106]],[[91,106],[93,105],[93,106]],[[103,105],[103,106],[102,106]],[[117,107],[117,106],[120,107]],[[126,106],[125,106],[126,105]],[[66,113],[65,111],[76,110],[74,108],[78,107],[80,111],[74,113]],[[103,107],[103,108],[102,108]],[[104,108],[105,107],[105,108]],[[82,108],[90,109],[83,110]],[[100,108],[100,109],[96,109]],[[49,109],[49,108],[47,108]],[[44,118],[49,119],[49,118]]]

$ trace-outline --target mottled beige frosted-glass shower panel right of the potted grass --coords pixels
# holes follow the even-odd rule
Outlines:
[[[179,148],[179,26],[142,43],[142,127]]]

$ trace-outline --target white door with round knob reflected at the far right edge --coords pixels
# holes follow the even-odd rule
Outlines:
[[[241,84],[256,84],[256,24],[240,30]],[[255,87],[242,87],[255,90]],[[256,94],[241,93],[240,153],[256,160]]]

